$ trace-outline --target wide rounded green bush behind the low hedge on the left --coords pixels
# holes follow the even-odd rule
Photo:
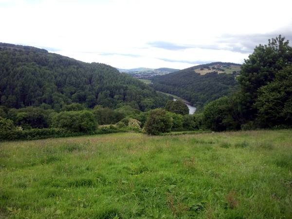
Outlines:
[[[65,128],[73,132],[91,132],[96,128],[94,115],[91,111],[63,111],[53,117],[52,126]]]

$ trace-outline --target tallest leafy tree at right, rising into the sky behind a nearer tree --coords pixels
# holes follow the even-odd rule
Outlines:
[[[258,96],[258,89],[272,82],[278,73],[292,63],[292,47],[289,40],[279,35],[269,39],[268,45],[256,46],[253,54],[241,66],[238,77],[241,93],[238,98],[241,103],[243,121],[256,118],[257,108],[254,103]]]

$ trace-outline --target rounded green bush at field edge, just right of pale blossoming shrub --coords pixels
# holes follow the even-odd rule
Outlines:
[[[148,135],[158,135],[161,132],[170,132],[171,127],[170,114],[166,110],[155,109],[150,111],[144,128]]]

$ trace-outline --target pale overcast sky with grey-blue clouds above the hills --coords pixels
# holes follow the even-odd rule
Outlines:
[[[0,42],[121,69],[242,63],[269,38],[292,40],[291,8],[292,0],[0,0]]]

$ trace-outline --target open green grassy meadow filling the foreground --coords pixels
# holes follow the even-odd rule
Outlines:
[[[292,130],[0,143],[0,218],[292,218]]]

